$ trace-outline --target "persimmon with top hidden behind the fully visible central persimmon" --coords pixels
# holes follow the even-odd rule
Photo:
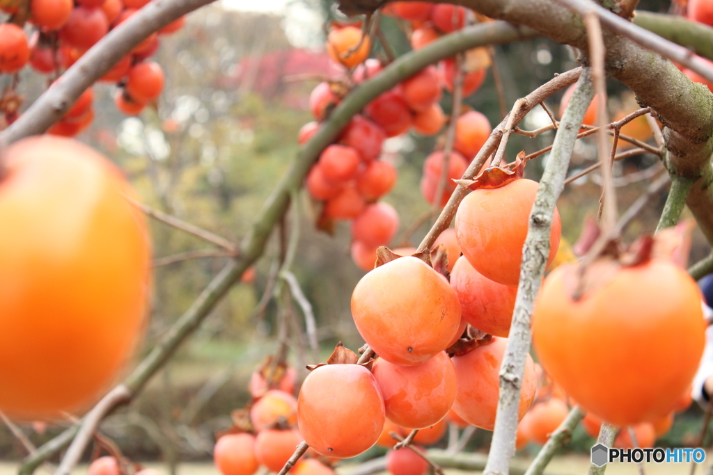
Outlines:
[[[371,372],[384,396],[386,417],[407,429],[424,429],[446,417],[456,397],[456,370],[445,352],[421,365],[378,358]]]

